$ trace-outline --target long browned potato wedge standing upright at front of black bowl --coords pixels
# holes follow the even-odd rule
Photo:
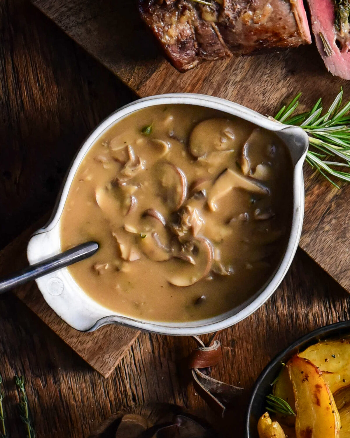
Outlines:
[[[339,438],[339,413],[321,371],[298,355],[288,361],[287,369],[294,389],[297,438]]]

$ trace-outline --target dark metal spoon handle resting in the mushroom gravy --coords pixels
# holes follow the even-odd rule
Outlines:
[[[95,254],[97,250],[98,244],[96,242],[86,242],[68,251],[61,252],[46,260],[40,261],[39,263],[35,263],[35,265],[30,265],[0,280],[0,293],[6,292],[7,290],[13,289],[45,274],[49,274],[50,272],[57,271],[57,269],[77,263],[77,261],[84,260],[84,258]]]

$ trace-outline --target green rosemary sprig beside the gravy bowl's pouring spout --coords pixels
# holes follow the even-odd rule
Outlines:
[[[318,99],[311,111],[294,115],[301,93],[278,111],[275,120],[288,125],[300,126],[309,136],[309,150],[305,161],[318,170],[334,186],[331,178],[350,182],[350,101],[342,106],[343,88],[329,109],[322,114],[322,99]],[[310,146],[312,149],[310,149]],[[329,161],[329,157],[336,160]],[[342,170],[334,167],[342,167]]]

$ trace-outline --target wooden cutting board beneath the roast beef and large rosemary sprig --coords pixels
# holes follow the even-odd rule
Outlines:
[[[181,74],[154,46],[135,0],[32,2],[141,97],[168,92],[203,93],[270,115],[276,113],[283,99],[299,91],[309,109],[319,97],[329,105],[340,86],[350,98],[349,84],[325,70],[315,44],[203,63]],[[350,185],[338,191],[305,167],[305,192],[300,246],[350,292],[350,215],[346,207]]]

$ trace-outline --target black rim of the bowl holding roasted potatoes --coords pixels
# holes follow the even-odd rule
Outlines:
[[[255,438],[250,433],[251,432],[250,422],[252,419],[251,417],[252,417],[252,410],[255,404],[255,398],[258,396],[258,392],[261,385],[265,383],[266,377],[269,374],[269,372],[273,369],[273,367],[275,367],[277,364],[280,364],[281,362],[285,363],[286,360],[290,359],[290,357],[292,357],[293,354],[295,354],[298,350],[300,350],[301,347],[306,348],[309,345],[313,345],[314,343],[317,343],[318,340],[320,339],[331,338],[333,334],[335,335],[337,332],[345,331],[345,329],[348,329],[350,332],[350,321],[340,321],[332,324],[323,325],[322,327],[319,327],[318,329],[312,330],[312,332],[306,333],[305,335],[301,336],[296,341],[294,341],[289,346],[287,346],[287,348],[285,348],[280,353],[278,353],[272,360],[269,361],[266,367],[259,374],[259,377],[256,379],[249,399],[248,410],[245,420],[246,438]],[[271,382],[269,383],[269,385],[270,384]]]

